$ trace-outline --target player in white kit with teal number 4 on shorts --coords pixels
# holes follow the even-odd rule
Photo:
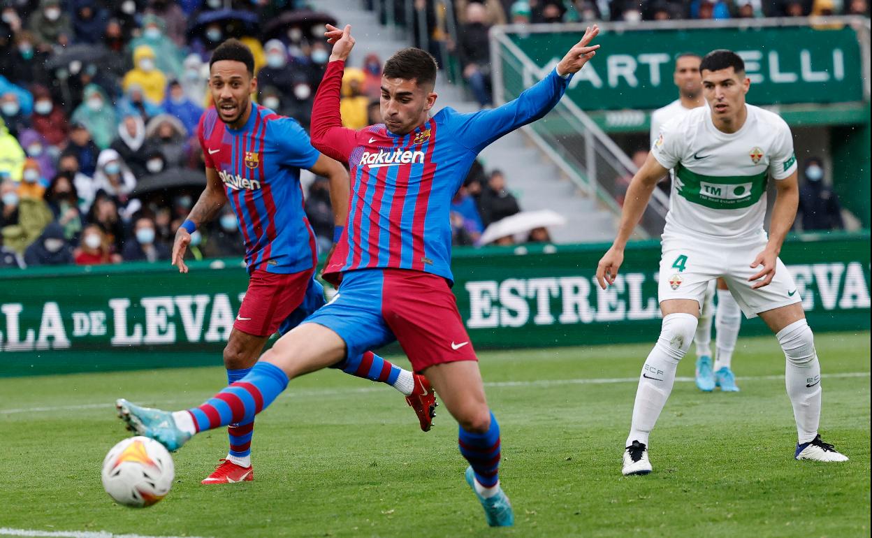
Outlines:
[[[710,52],[700,72],[709,107],[663,126],[630,182],[617,238],[596,268],[603,289],[615,283],[624,246],[657,180],[673,169],[658,288],[663,325],[639,377],[623,474],[651,473],[649,435],[672,391],[678,362],[690,348],[705,289],[719,277],[747,317],[760,316],[773,330],[784,351],[798,434],[794,458],[848,460],[818,432],[821,365],[794,280],[778,257],[799,204],[790,129],[777,114],[746,105],[751,82],[734,52]],[[776,200],[766,235],[770,180]]]

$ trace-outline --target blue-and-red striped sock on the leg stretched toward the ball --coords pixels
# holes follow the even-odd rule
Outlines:
[[[247,376],[187,412],[194,419],[195,432],[230,424],[249,424],[255,414],[266,409],[287,386],[288,376],[281,368],[259,362]]]

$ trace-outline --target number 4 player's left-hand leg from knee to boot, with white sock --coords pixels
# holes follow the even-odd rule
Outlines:
[[[663,325],[657,344],[645,359],[639,377],[630,435],[623,451],[623,474],[651,473],[648,436],[672,392],[678,362],[690,349],[697,328],[697,301],[669,299],[660,303],[660,310],[663,312]]]

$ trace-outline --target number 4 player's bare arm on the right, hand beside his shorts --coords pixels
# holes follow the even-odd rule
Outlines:
[[[748,282],[753,282],[752,289],[768,286],[772,282],[781,245],[784,244],[787,232],[794,225],[796,209],[799,206],[800,187],[796,172],[783,180],[775,180],[775,203],[772,208],[772,222],[769,224],[769,242],[766,242],[766,249],[763,249],[751,262],[751,269],[763,266],[760,271],[748,278]]]

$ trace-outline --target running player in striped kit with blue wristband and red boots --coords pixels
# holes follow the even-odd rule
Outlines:
[[[229,202],[245,242],[249,272],[249,286],[223,354],[228,384],[233,384],[249,373],[276,330],[284,334],[324,305],[324,288],[313,277],[315,235],[303,211],[300,170],[330,180],[337,233],[348,211],[348,173],[311,146],[295,119],[252,102],[257,79],[254,57],[245,44],[229,39],[219,45],[212,53],[209,71],[215,107],[203,113],[197,129],[207,187],[176,233],[173,263],[187,273],[184,255],[190,234],[212,221]],[[392,385],[418,414],[421,429],[430,429],[436,403],[423,376],[366,350],[331,367]],[[228,416],[230,410],[224,406],[217,413]],[[201,413],[196,418],[215,423],[218,414]],[[228,455],[204,484],[253,480],[253,430],[253,420],[228,425]]]

